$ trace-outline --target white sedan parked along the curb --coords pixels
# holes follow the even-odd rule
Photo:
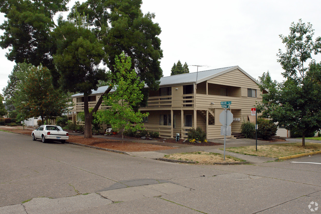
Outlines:
[[[32,131],[31,136],[33,141],[42,139],[43,143],[47,142],[47,140],[65,143],[69,138],[68,132],[63,131],[57,125],[40,125],[36,130]]]

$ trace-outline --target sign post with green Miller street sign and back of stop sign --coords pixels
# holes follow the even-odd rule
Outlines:
[[[231,135],[231,126],[230,124],[233,122],[233,114],[230,112],[230,110],[227,110],[230,108],[231,101],[225,101],[221,102],[222,108],[224,108],[224,111],[220,114],[220,123],[221,126],[221,135],[224,135],[224,160],[225,160],[225,143],[226,143],[226,135]]]

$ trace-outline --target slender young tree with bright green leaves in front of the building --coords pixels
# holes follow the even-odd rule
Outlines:
[[[123,142],[125,129],[142,130],[143,117],[148,116],[148,113],[142,114],[139,110],[133,109],[133,106],[143,99],[141,89],[144,87],[144,81],[140,81],[135,70],[131,68],[131,57],[123,52],[115,58],[115,64],[115,91],[104,97],[104,104],[110,108],[99,111],[96,115],[101,122],[110,124],[112,129],[122,130]]]

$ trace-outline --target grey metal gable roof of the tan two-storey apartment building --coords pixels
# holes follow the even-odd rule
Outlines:
[[[184,84],[184,83],[194,83],[196,82],[202,82],[208,79],[211,79],[215,76],[219,76],[223,73],[232,71],[234,69],[239,69],[241,72],[246,74],[250,79],[258,83],[253,77],[251,77],[249,74],[247,74],[244,70],[242,70],[239,66],[231,66],[226,68],[218,68],[218,69],[212,69],[207,71],[199,71],[199,72],[193,72],[193,73],[183,73],[183,74],[177,74],[173,76],[167,76],[167,77],[161,77],[160,78],[160,86],[165,85],[177,85],[177,84]],[[145,85],[147,87],[147,85]],[[102,86],[99,87],[97,90],[93,90],[91,95],[95,94],[102,94],[108,89],[108,86]],[[111,90],[110,92],[113,92],[115,90]],[[83,96],[82,93],[74,94],[71,97],[80,97]]]

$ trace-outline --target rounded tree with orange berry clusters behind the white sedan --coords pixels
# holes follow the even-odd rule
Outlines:
[[[68,96],[54,89],[50,71],[41,64],[18,65],[17,85],[10,98],[19,118],[41,116],[42,122],[61,116],[68,110]]]

